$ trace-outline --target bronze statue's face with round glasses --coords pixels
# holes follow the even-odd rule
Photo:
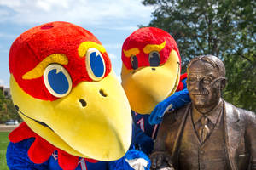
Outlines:
[[[213,88],[218,70],[204,61],[195,61],[188,70],[188,90],[195,108],[213,108],[218,104],[220,89]]]

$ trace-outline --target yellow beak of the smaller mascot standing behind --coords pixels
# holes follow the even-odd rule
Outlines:
[[[180,76],[177,52],[172,50],[164,65],[128,70],[122,67],[122,86],[129,99],[131,110],[140,114],[150,114],[155,105],[177,88]]]

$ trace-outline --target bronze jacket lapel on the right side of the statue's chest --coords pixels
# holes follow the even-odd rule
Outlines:
[[[224,134],[225,134],[225,147],[230,161],[232,170],[237,170],[237,162],[235,161],[236,150],[239,146],[241,139],[241,126],[239,114],[233,110],[230,104],[224,101]]]

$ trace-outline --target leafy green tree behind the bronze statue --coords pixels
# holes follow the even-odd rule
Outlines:
[[[190,59],[212,54],[224,61],[224,99],[256,111],[256,3],[253,0],[143,0],[154,6],[148,26],[177,41],[183,71]]]

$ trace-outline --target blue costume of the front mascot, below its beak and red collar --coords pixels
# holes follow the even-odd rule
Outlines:
[[[19,143],[9,143],[6,152],[7,164],[10,170],[61,170],[61,167],[58,164],[58,153],[55,153],[50,156],[48,161],[45,161],[42,164],[33,163],[27,156],[27,150],[29,150],[34,139],[25,139]],[[124,157],[117,161],[98,161],[96,163],[91,163],[85,161],[84,158],[79,160],[78,167],[75,170],[133,170],[126,160],[133,160],[137,158],[143,158],[148,161],[147,167],[145,170],[149,170],[150,161],[148,156],[143,152],[138,150],[128,150]]]

